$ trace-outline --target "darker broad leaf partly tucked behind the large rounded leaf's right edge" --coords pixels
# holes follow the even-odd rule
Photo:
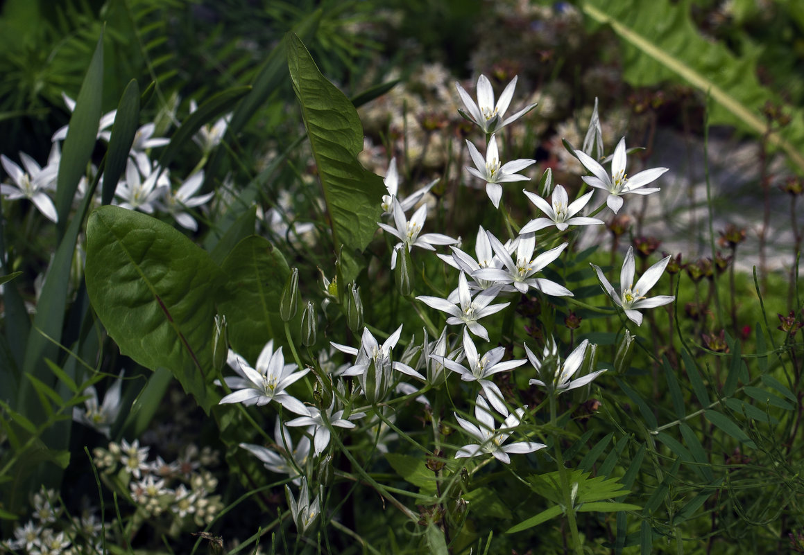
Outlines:
[[[284,337],[279,297],[290,269],[281,252],[256,235],[237,243],[222,269],[228,284],[219,310],[228,321],[229,343],[253,363],[265,343],[277,334]]]

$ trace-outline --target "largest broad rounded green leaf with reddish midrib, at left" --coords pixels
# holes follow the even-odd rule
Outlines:
[[[170,369],[204,410],[214,402],[211,337],[224,273],[173,226],[117,206],[87,223],[89,299],[121,353]]]

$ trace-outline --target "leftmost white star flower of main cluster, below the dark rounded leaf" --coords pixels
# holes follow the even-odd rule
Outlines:
[[[273,350],[273,339],[263,347],[260,356],[257,357],[256,368],[249,366],[243,357],[234,357],[234,362],[236,365],[231,363],[230,365],[235,368],[240,377],[224,377],[224,382],[236,391],[222,398],[219,402],[220,405],[242,402],[246,405],[263,406],[276,401],[296,414],[308,414],[304,403],[285,393],[285,388],[304,377],[306,373],[310,372],[310,369],[294,372],[296,365],[285,364],[282,348]]]

